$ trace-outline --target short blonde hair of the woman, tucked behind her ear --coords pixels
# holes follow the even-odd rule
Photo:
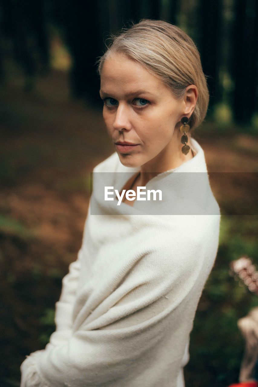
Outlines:
[[[162,20],[142,19],[138,24],[111,35],[107,51],[98,57],[98,74],[112,53],[124,53],[143,65],[170,87],[177,99],[184,97],[187,86],[194,84],[198,99],[190,117],[191,132],[204,120],[209,103],[206,76],[194,41],[179,27]]]

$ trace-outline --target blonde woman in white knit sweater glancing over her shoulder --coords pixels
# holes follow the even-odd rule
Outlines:
[[[208,106],[200,55],[178,27],[145,19],[114,37],[98,70],[115,152],[93,170],[57,329],[22,363],[21,386],[182,387],[220,223],[203,149],[189,132]],[[134,197],[137,187],[162,200]]]

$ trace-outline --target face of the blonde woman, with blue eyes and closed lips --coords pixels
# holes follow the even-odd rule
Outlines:
[[[100,96],[105,125],[123,165],[157,167],[173,142],[179,141],[180,146],[182,134],[173,134],[186,114],[184,100],[175,99],[169,87],[139,63],[121,53],[107,58]],[[135,145],[119,146],[119,142]]]

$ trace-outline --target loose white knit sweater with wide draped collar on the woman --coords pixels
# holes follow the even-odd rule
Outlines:
[[[138,202],[103,202],[93,185],[91,205],[101,215],[89,207],[82,247],[56,303],[56,331],[45,349],[22,363],[21,387],[184,386],[189,334],[217,254],[220,224],[203,149],[190,141],[194,158],[147,185],[162,189],[176,208],[183,197],[182,208],[192,203],[192,214],[165,215],[162,209],[155,215],[139,212]],[[113,172],[120,190],[123,174],[117,172],[137,170],[114,153],[93,172]],[[207,179],[195,186],[201,189],[187,179],[179,187],[174,172]]]

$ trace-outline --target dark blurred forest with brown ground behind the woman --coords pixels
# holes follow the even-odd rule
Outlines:
[[[221,208],[218,256],[191,332],[186,387],[238,381],[237,320],[258,297],[229,274],[258,268],[258,2],[2,0],[0,3],[0,386],[55,330],[55,302],[81,247],[90,172],[114,152],[101,116],[96,59],[110,33],[162,19],[196,43],[210,105],[193,137]],[[183,63],[182,63],[183,65]]]

